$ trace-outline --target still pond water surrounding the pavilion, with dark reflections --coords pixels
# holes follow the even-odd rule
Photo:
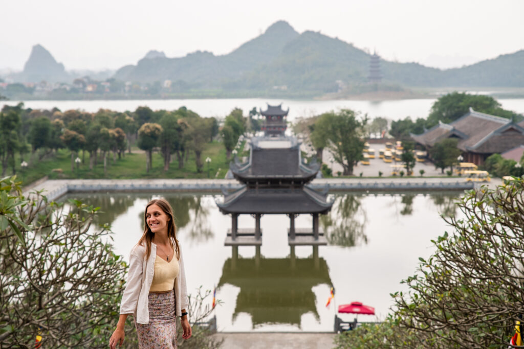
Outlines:
[[[110,223],[115,252],[128,254],[143,232],[143,212],[161,193],[69,194],[86,204],[102,207],[99,223]],[[215,308],[219,331],[332,331],[335,309],[361,301],[375,307],[384,319],[392,305],[390,292],[406,290],[401,279],[413,275],[418,257],[428,257],[430,242],[450,227],[440,217],[455,212],[455,193],[336,194],[329,215],[321,217],[328,246],[318,258],[311,246],[297,246],[290,256],[289,218],[266,215],[260,258],[255,247],[224,246],[230,216],[223,215],[213,195],[163,194],[177,220],[177,237],[184,253],[188,291],[213,290],[223,304]],[[296,219],[297,228],[311,227],[310,216]],[[254,218],[240,216],[239,228],[253,228]],[[334,303],[325,307],[331,285]],[[211,299],[208,300],[211,304]],[[117,307],[115,305],[115,307]],[[342,319],[353,320],[351,314]]]

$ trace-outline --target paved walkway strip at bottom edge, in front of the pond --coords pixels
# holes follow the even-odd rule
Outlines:
[[[334,333],[217,333],[227,349],[328,349],[332,348]]]

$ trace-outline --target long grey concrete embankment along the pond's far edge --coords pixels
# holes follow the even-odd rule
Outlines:
[[[494,187],[496,180],[490,183]],[[319,178],[310,184],[315,189],[326,189],[330,193],[343,192],[405,192],[429,190],[472,189],[473,183],[462,178]],[[479,183],[475,184],[479,186]],[[43,190],[50,200],[67,193],[90,192],[215,192],[241,188],[235,179],[49,179],[38,183],[25,194]]]

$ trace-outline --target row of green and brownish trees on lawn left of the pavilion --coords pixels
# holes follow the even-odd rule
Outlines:
[[[254,118],[256,109],[253,108],[249,115],[251,122],[243,116],[241,109],[235,108],[219,129],[216,118],[201,117],[185,107],[172,111],[154,111],[149,107],[125,112],[100,109],[91,113],[80,110],[62,112],[58,108],[33,110],[24,108],[23,103],[5,105],[0,112],[2,175],[9,167],[13,174],[16,173],[15,154],[19,154],[20,161],[25,163],[25,155],[29,153],[26,166],[30,166],[64,148],[71,152],[71,171],[74,171],[75,162],[84,163],[85,152],[88,152],[90,170],[103,161],[106,174],[108,156],[113,154],[113,162],[116,162],[117,158],[125,156],[126,150],[131,152],[134,144],[146,152],[148,172],[152,152],[158,149],[163,157],[164,171],[169,170],[175,155],[179,168],[183,168],[189,153],[193,152],[200,173],[203,167],[201,154],[206,143],[220,138],[229,158],[246,128],[259,129],[258,120]]]

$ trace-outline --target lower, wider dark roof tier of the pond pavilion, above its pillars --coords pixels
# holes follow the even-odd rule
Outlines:
[[[217,202],[216,205],[224,214],[327,213],[333,202],[327,202],[326,198],[326,194],[308,186],[287,189],[243,187],[225,195],[224,202]]]

